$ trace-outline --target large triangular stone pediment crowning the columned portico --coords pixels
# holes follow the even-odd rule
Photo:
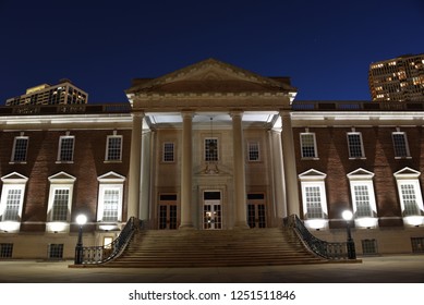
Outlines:
[[[264,77],[234,65],[207,59],[153,80],[135,80],[132,94],[291,91],[288,77]]]

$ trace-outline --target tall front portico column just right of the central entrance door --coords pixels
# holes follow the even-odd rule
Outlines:
[[[244,168],[242,111],[232,111],[232,149],[234,163],[234,228],[249,229],[246,215],[246,180]]]

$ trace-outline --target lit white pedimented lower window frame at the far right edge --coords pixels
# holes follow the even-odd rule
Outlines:
[[[421,173],[411,168],[403,168],[402,170],[396,172],[395,174],[396,183],[398,186],[398,196],[400,202],[400,207],[403,217],[403,223],[407,225],[423,225],[424,224],[424,205],[423,205],[423,194],[421,192],[421,185],[419,176]],[[417,215],[404,215],[405,204],[402,196],[402,185],[412,185],[414,190],[414,195],[417,205]]]

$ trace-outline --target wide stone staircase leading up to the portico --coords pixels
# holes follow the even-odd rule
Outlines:
[[[142,230],[104,267],[232,267],[322,264],[288,229]]]

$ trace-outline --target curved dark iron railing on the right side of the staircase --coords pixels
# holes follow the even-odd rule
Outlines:
[[[317,239],[307,230],[296,215],[284,218],[283,224],[287,228],[292,228],[305,246],[316,255],[327,259],[348,259],[348,246],[346,242],[329,243]]]

